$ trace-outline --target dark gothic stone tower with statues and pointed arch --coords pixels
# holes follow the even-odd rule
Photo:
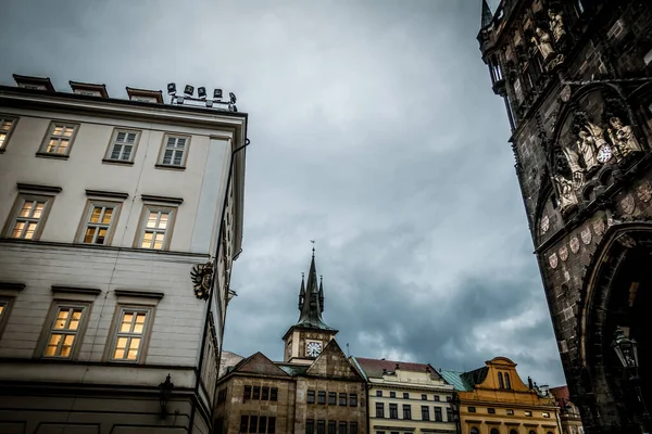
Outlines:
[[[588,433],[640,432],[652,404],[652,2],[484,3],[478,35],[512,127],[535,253]]]

